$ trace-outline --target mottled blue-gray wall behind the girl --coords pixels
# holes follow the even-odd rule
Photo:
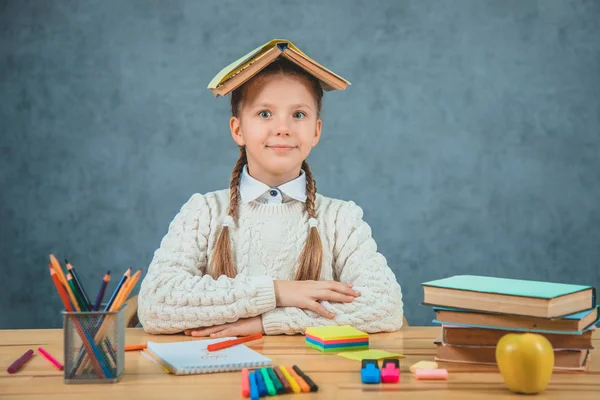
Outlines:
[[[452,274],[600,288],[599,1],[5,0],[0,33],[0,328],[61,326],[48,252],[95,293],[227,186],[206,85],[274,37],[352,82],[309,162],[363,207],[411,324]]]

